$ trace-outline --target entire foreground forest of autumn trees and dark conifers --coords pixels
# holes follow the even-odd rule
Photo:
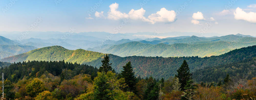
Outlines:
[[[256,59],[256,58],[255,58]],[[115,72],[105,55],[98,68],[62,61],[28,61],[2,67],[3,96],[11,100],[255,100],[256,78],[197,82],[182,60],[175,77],[135,77],[130,61]],[[238,80],[238,81],[237,81]],[[2,90],[0,90],[2,93]]]

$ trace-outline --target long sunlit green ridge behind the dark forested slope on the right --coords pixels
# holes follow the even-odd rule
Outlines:
[[[204,38],[203,38],[204,39]],[[255,38],[256,39],[256,38]],[[181,57],[181,56],[214,56],[229,52],[230,50],[256,45],[255,42],[212,42],[205,44],[172,44],[159,43],[156,45],[143,44],[139,42],[129,42],[126,44],[114,45],[108,49],[95,50],[101,53],[114,54],[121,57],[125,56],[162,56],[162,57]]]

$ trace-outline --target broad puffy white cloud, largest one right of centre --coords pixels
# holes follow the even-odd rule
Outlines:
[[[165,8],[160,9],[155,14],[148,16],[152,24],[156,22],[174,22],[176,20],[176,13],[174,10],[168,11]]]

